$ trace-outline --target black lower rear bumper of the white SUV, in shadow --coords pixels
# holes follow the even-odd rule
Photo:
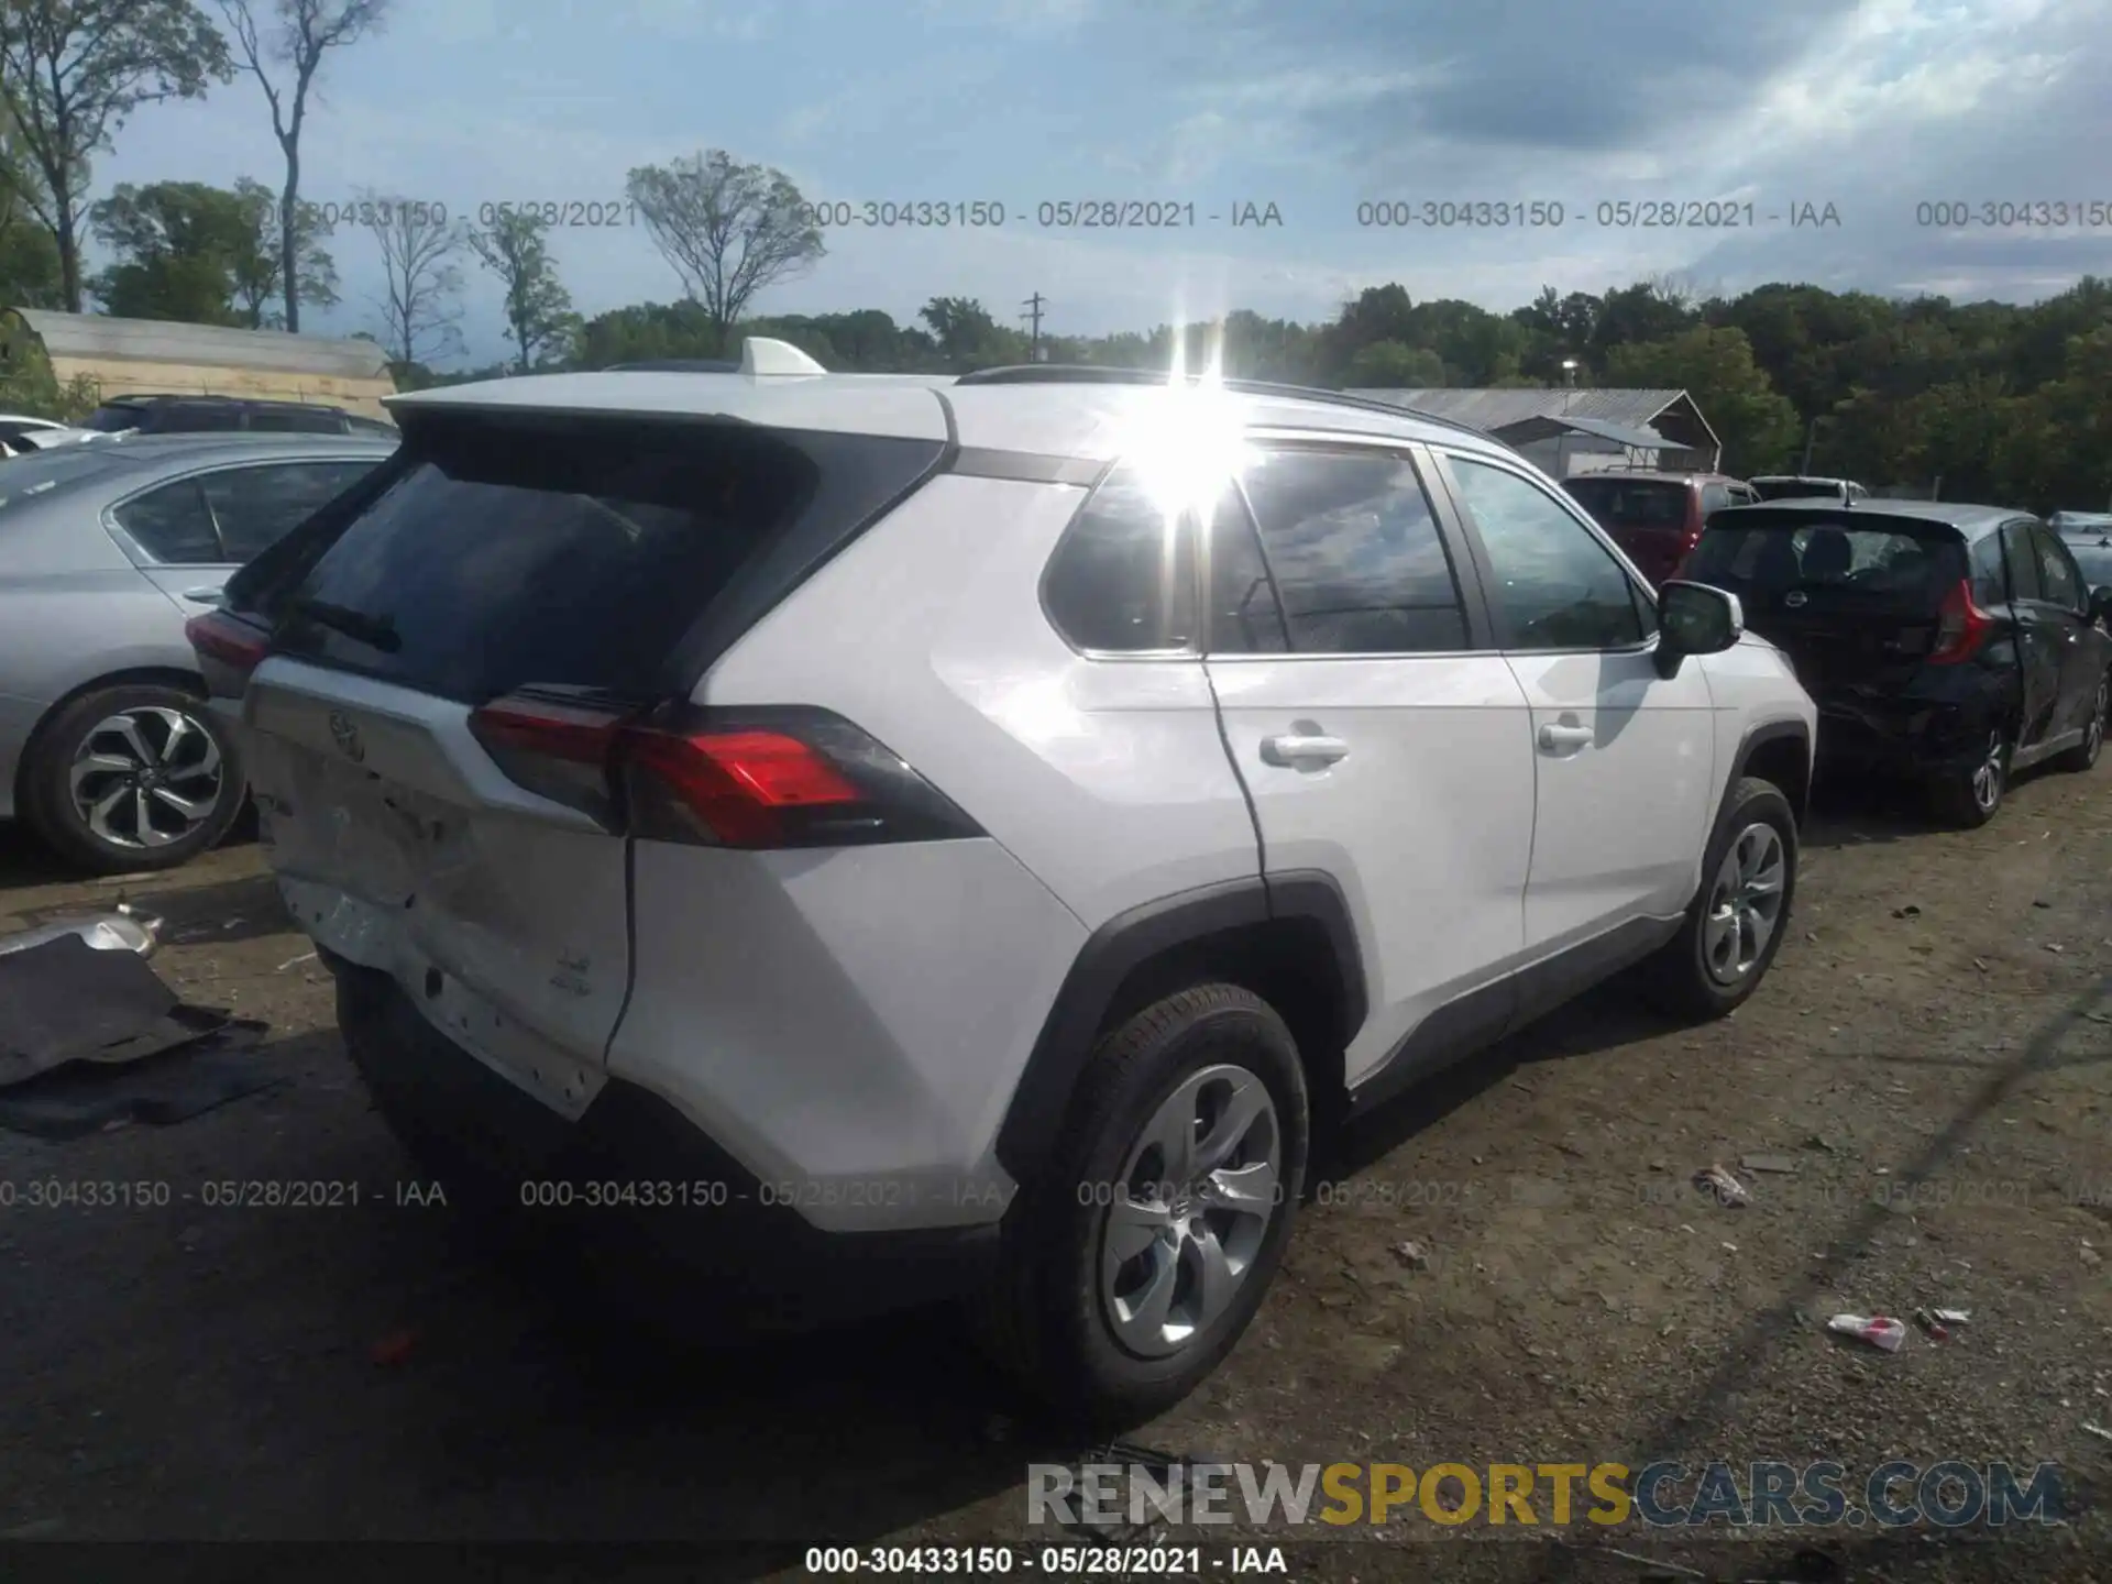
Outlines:
[[[762,1185],[657,1094],[610,1079],[570,1121],[439,1033],[389,976],[325,961],[346,1050],[391,1119],[467,1155],[501,1206],[619,1269],[689,1278],[642,1284],[682,1303],[689,1331],[803,1331],[961,1297],[991,1276],[995,1223],[824,1231],[786,1202],[796,1187]]]

